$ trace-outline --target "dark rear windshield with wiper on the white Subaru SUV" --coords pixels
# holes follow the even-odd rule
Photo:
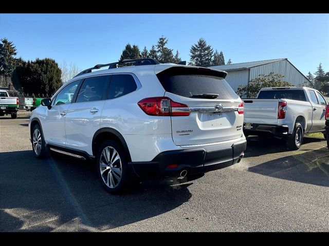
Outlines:
[[[218,97],[213,99],[238,98],[223,76],[226,73],[220,71],[181,67],[173,67],[157,74],[163,88],[179,96],[200,98],[197,95],[217,94]]]

